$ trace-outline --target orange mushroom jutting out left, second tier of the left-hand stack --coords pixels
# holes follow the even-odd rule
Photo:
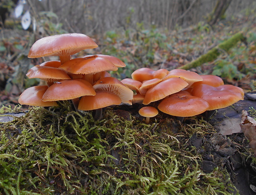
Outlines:
[[[64,70],[50,66],[33,66],[28,70],[26,74],[28,78],[40,78],[46,81],[47,85],[50,87],[54,82],[59,80],[71,80],[69,75]]]

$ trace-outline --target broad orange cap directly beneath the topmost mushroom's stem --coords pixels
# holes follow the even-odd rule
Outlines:
[[[108,70],[118,70],[113,63],[101,57],[71,59],[59,68],[69,73],[85,75]]]

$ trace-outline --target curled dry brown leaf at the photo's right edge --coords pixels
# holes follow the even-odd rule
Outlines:
[[[244,132],[244,136],[249,139],[249,145],[254,151],[254,156],[256,157],[256,121],[247,115],[247,111],[242,111],[242,121],[240,127]]]

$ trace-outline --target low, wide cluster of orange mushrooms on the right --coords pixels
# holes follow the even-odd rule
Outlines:
[[[198,75],[183,69],[140,68],[131,76],[131,79],[121,82],[134,91],[132,103],[152,104],[179,120],[207,110],[225,108],[244,99],[241,88],[224,85],[223,80],[215,75]],[[144,108],[142,111],[142,116],[146,117]]]

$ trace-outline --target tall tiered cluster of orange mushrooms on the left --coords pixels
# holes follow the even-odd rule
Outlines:
[[[29,58],[59,56],[60,61],[47,61],[28,70],[28,78],[40,78],[47,85],[26,89],[19,103],[58,106],[57,101],[72,100],[76,110],[130,103],[133,91],[107,72],[125,67],[120,59],[102,54],[71,59],[71,55],[83,49],[96,47],[91,38],[79,33],[53,35],[36,41],[28,53]]]

